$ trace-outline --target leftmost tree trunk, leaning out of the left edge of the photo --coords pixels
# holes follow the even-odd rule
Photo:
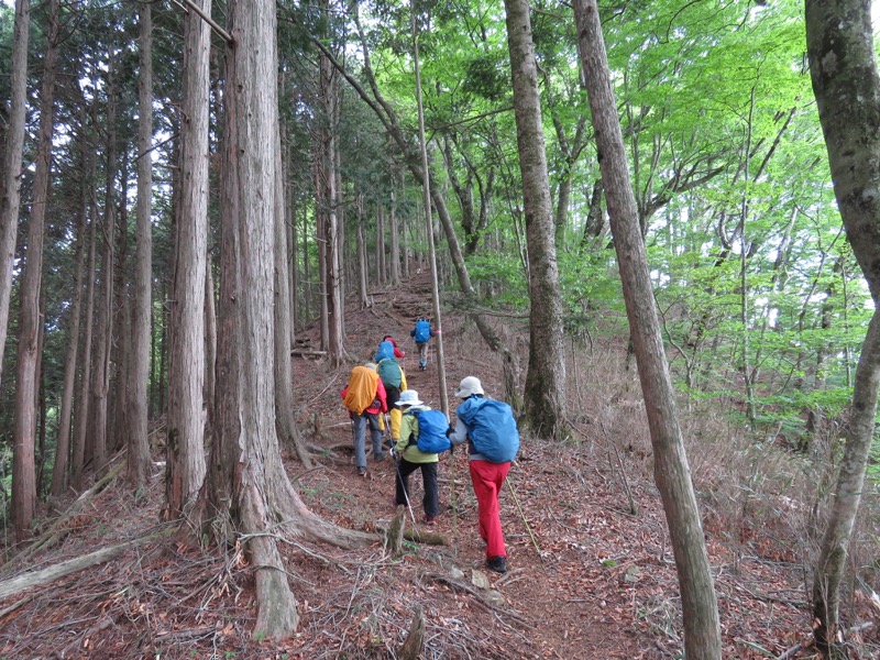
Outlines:
[[[3,349],[7,345],[9,301],[12,295],[12,264],[15,260],[15,239],[19,232],[30,25],[30,0],[15,0],[9,129],[3,151],[3,167],[0,168],[0,382],[3,375]]]

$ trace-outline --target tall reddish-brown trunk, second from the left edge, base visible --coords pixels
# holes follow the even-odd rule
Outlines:
[[[40,102],[40,133],[36,147],[33,204],[28,226],[28,249],[21,276],[19,355],[15,381],[15,428],[12,453],[12,524],[15,537],[30,536],[36,507],[34,444],[36,433],[37,364],[40,361],[41,287],[43,284],[43,239],[52,175],[52,135],[55,127],[55,78],[58,63],[58,0],[50,0],[48,44],[43,67]]]

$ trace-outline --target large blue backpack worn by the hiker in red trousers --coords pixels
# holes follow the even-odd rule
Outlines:
[[[468,427],[474,449],[491,463],[507,463],[519,451],[514,411],[504,402],[471,397],[455,410]]]

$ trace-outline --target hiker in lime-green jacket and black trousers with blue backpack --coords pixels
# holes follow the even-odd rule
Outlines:
[[[402,392],[397,405],[404,411],[404,418],[400,422],[400,439],[394,447],[394,451],[400,457],[397,463],[394,502],[398,506],[408,504],[409,475],[421,469],[421,480],[425,484],[425,497],[421,501],[425,522],[433,525],[439,512],[437,463],[440,459],[437,452],[451,447],[446,437],[449,421],[440,410],[431,410],[420,402],[419,393],[415,389]]]

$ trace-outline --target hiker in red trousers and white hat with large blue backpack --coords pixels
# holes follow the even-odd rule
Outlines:
[[[480,536],[486,541],[486,565],[496,573],[507,572],[507,551],[502,531],[498,497],[519,451],[519,431],[510,406],[485,398],[480,378],[462,378],[455,397],[464,399],[455,408],[455,428],[449,427],[452,446],[468,443],[471,482],[480,515]]]

